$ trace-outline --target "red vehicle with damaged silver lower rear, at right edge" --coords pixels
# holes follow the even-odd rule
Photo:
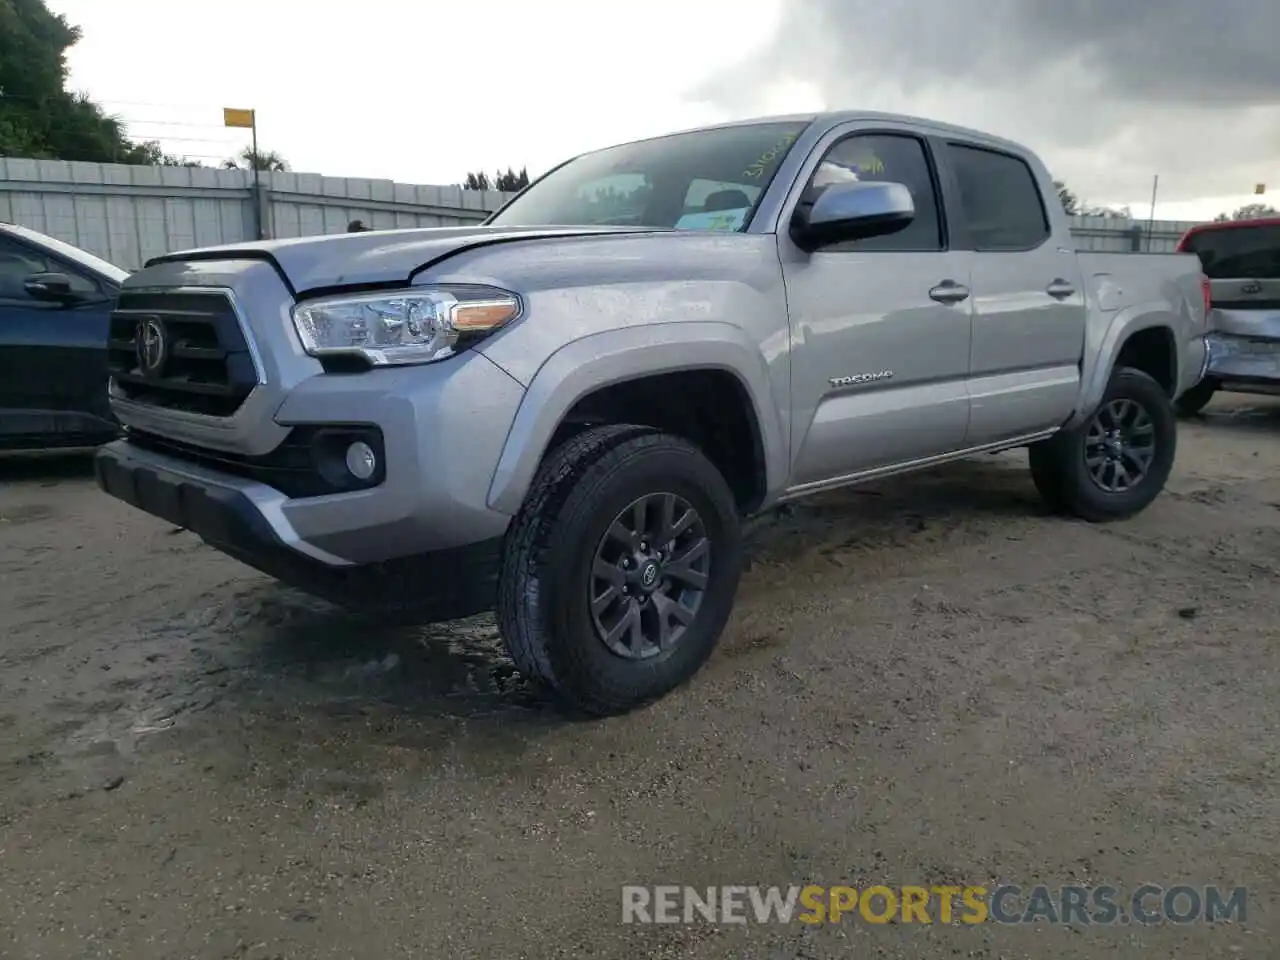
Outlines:
[[[1217,390],[1280,396],[1280,218],[1199,224],[1178,251],[1199,256],[1211,307],[1204,376],[1179,412],[1199,412]]]

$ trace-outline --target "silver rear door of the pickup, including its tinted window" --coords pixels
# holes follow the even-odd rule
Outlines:
[[[1060,426],[1079,394],[1087,314],[1074,248],[1053,236],[1056,198],[1018,154],[954,138],[942,154],[963,211],[957,246],[973,250],[965,445]]]

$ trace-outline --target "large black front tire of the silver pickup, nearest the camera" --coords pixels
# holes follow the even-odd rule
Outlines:
[[[650,516],[655,521],[663,503],[675,504],[673,515],[686,521],[684,507],[691,507],[696,520],[671,541],[675,559],[667,557],[664,566],[637,563],[640,540],[623,545],[614,520],[622,521],[626,511],[631,522],[637,500],[666,497],[673,499],[645,500],[654,504]],[[667,530],[672,529],[668,524]],[[698,534],[709,544],[705,559],[704,554],[687,559],[687,545]],[[664,544],[648,547],[657,550]],[[598,552],[603,567],[596,564]],[[686,576],[696,580],[696,570],[676,572],[681,559],[700,564],[705,575],[700,593],[684,582]],[[646,581],[653,593],[634,600],[639,581],[623,584],[621,577],[640,577],[641,568],[652,573],[650,562],[660,571]],[[602,568],[608,577],[598,576]],[[498,627],[516,667],[547,685],[563,705],[593,716],[626,713],[680,686],[707,662],[733,608],[741,568],[742,534],[733,494],[701,451],[650,428],[593,426],[548,456],[507,531],[498,576]],[[671,594],[663,593],[668,584]],[[598,620],[591,611],[593,591],[603,602],[609,590],[613,600]],[[622,595],[626,590],[631,596]],[[678,596],[685,625],[663,616],[673,609],[671,596]],[[666,648],[645,646],[627,628],[614,640],[627,650],[608,646],[602,634],[614,621],[607,616],[636,604],[648,609],[639,614],[646,628],[660,620],[680,632],[678,639]],[[694,604],[696,612],[689,614]],[[643,657],[636,653],[641,646]]]

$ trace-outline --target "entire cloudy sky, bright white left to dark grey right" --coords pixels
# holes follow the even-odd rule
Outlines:
[[[718,120],[929,116],[1027,143],[1091,205],[1280,207],[1275,0],[47,0],[70,86],[205,163],[458,183]],[[1253,196],[1254,184],[1266,184]]]

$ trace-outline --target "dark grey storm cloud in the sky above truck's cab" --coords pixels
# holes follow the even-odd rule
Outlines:
[[[1097,200],[1152,173],[1190,198],[1280,180],[1277,44],[1280,0],[787,0],[774,40],[695,96],[741,115],[805,81],[833,109],[1023,140]]]

